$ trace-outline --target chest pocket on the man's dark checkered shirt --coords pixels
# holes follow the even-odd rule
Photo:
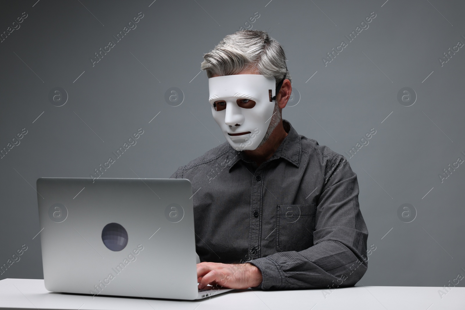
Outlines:
[[[313,245],[314,204],[281,204],[277,251],[302,251]]]

